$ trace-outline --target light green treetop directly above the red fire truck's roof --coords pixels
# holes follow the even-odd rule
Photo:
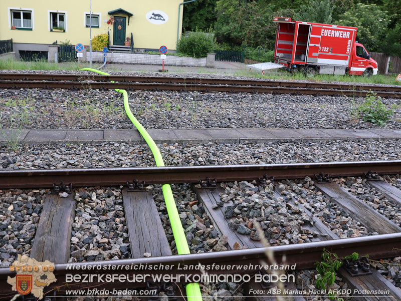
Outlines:
[[[295,18],[297,21],[331,24],[334,7],[331,0],[310,0],[308,4],[301,6]]]

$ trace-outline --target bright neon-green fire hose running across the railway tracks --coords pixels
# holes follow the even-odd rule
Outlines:
[[[110,75],[106,72],[92,68],[83,68],[81,70],[92,71],[101,75]],[[152,137],[150,137],[146,129],[140,124],[140,122],[135,118],[135,116],[129,109],[127,91],[122,89],[114,89],[114,90],[118,93],[122,93],[124,97],[125,113],[127,113],[133,125],[138,129],[139,133],[142,135],[143,139],[145,139],[147,145],[150,147],[150,150],[152,151],[154,156],[154,160],[156,161],[156,166],[157,167],[164,166],[163,158],[161,157],[160,150],[157,148],[156,143],[154,143]],[[167,208],[167,214],[170,219],[172,233],[174,235],[175,245],[177,246],[177,252],[178,254],[189,254],[190,253],[189,247],[186,242],[184,230],[181,225],[181,220],[178,215],[177,207],[175,206],[175,201],[172,195],[171,186],[170,184],[164,184],[161,187]],[[185,290],[188,301],[202,301],[202,294],[200,293],[200,287],[198,283],[186,284]]]

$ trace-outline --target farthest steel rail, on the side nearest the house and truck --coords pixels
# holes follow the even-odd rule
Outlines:
[[[239,86],[270,86],[290,88],[328,88],[341,90],[372,90],[399,92],[401,86],[377,86],[359,83],[336,84],[300,82],[286,80],[244,80],[244,79],[213,79],[196,77],[161,77],[161,76],[122,76],[122,75],[76,75],[76,74],[31,74],[31,73],[0,73],[0,80],[39,80],[39,81],[116,81],[116,82],[143,82],[143,83],[181,83],[181,84],[213,84]]]

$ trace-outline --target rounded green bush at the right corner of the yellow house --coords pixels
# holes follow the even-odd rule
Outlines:
[[[213,34],[202,32],[194,32],[186,36],[181,36],[177,44],[178,53],[194,58],[205,58],[214,48],[215,38]]]

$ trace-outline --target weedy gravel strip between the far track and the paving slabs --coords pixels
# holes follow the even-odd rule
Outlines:
[[[385,126],[362,119],[352,122],[351,107],[360,98],[272,95],[251,93],[198,93],[174,91],[128,92],[130,109],[147,129],[168,128],[401,128],[399,100]],[[113,90],[22,89],[0,92],[4,128],[130,129],[122,96]],[[296,114],[294,114],[296,112]]]

